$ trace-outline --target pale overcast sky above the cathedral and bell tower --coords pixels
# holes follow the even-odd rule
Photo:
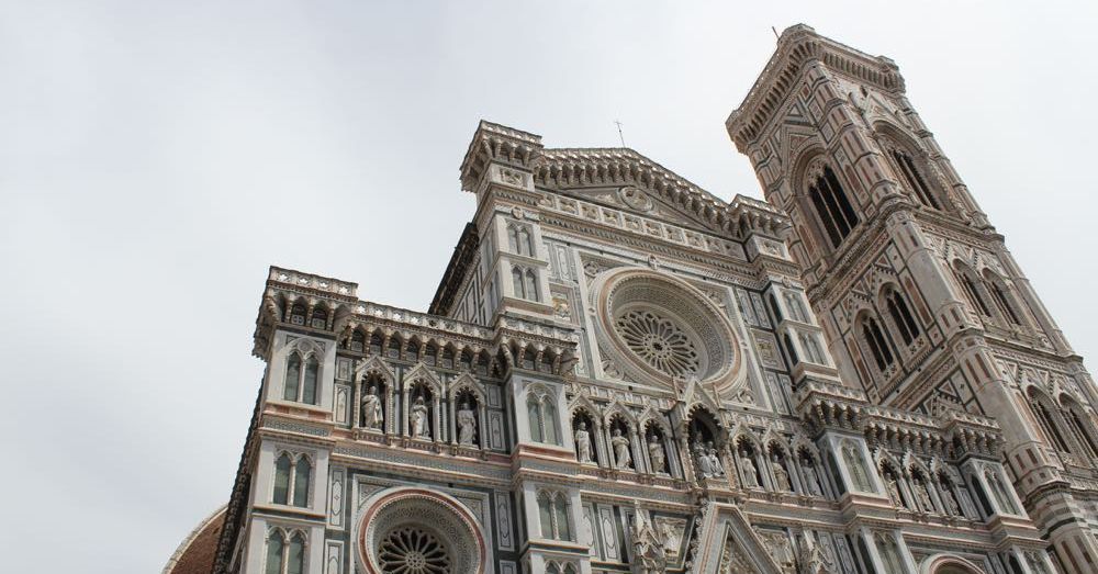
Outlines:
[[[158,572],[227,500],[267,268],[426,309],[481,119],[761,196],[724,121],[804,22],[892,57],[1098,354],[1096,2],[0,1],[0,549]]]

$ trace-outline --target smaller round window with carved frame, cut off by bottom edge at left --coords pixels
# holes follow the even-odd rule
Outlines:
[[[358,526],[358,561],[370,574],[483,574],[486,547],[461,503],[442,493],[394,487],[371,496]]]

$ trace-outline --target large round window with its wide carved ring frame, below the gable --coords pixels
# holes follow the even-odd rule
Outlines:
[[[595,279],[605,350],[638,382],[697,378],[724,389],[737,380],[739,353],[728,320],[704,294],[670,275],[619,268]]]

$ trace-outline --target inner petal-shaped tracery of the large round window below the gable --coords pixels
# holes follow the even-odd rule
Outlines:
[[[615,326],[626,347],[657,370],[687,376],[701,369],[697,346],[675,322],[653,311],[632,309]]]

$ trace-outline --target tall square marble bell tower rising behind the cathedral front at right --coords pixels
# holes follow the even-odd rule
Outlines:
[[[789,27],[726,126],[793,221],[788,249],[843,384],[888,407],[996,418],[1061,567],[1098,570],[1098,516],[1076,489],[1098,472],[1094,382],[896,64]],[[1017,515],[987,506],[997,527]]]

